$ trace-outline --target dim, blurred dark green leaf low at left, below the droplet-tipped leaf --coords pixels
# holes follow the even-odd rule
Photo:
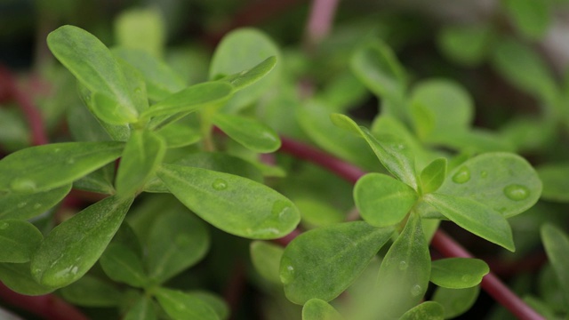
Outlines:
[[[123,294],[115,286],[90,275],[61,288],[59,292],[65,300],[82,307],[116,307],[123,300]]]

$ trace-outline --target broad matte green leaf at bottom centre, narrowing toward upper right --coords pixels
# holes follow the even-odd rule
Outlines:
[[[284,249],[280,277],[284,294],[296,304],[333,300],[359,276],[392,235],[364,221],[309,230]]]

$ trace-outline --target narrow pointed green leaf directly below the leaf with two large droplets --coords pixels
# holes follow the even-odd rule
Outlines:
[[[501,245],[510,252],[516,251],[512,230],[500,212],[466,197],[436,193],[425,195],[423,199],[461,228]]]

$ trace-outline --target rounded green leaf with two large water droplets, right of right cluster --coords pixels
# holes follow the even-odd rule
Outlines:
[[[475,156],[449,172],[437,193],[469,197],[509,218],[537,202],[541,180],[523,157],[493,152]]]

